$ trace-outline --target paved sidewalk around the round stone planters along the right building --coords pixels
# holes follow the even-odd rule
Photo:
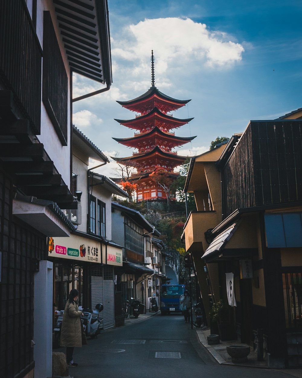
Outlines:
[[[257,352],[254,352],[253,348],[250,347],[250,354],[248,355],[248,361],[244,363],[232,363],[231,356],[227,353],[227,345],[238,345],[240,344],[237,340],[231,341],[220,341],[219,344],[209,345],[207,341],[207,336],[211,334],[210,328],[196,330],[196,333],[199,337],[200,343],[205,347],[209,353],[216,359],[217,363],[223,365],[236,365],[236,366],[246,366],[246,367],[257,367],[269,369],[267,365],[267,359],[264,361],[257,361]],[[247,345],[247,344],[242,344]],[[284,372],[288,375],[292,375],[298,378],[302,378],[302,369],[278,369],[278,372]]]

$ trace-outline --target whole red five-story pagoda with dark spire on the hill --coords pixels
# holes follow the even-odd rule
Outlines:
[[[155,87],[153,50],[151,68],[152,86],[146,93],[130,101],[117,101],[122,107],[140,114],[133,119],[115,119],[115,121],[138,132],[130,138],[113,138],[120,144],[138,150],[133,152],[132,156],[114,158],[121,164],[136,168],[137,173],[131,175],[130,181],[137,184],[138,201],[166,199],[162,186],[154,183],[149,175],[160,167],[170,178],[177,178],[179,174],[174,172],[174,168],[183,164],[186,156],[179,156],[172,149],[195,138],[195,136],[176,136],[171,132],[193,118],[174,118],[169,112],[183,107],[191,100],[177,100],[166,96]]]

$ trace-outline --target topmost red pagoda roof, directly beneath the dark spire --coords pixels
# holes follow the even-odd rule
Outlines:
[[[129,101],[117,101],[124,108],[138,113],[150,112],[154,107],[170,112],[186,105],[191,100],[177,100],[160,92],[154,85],[146,93]]]

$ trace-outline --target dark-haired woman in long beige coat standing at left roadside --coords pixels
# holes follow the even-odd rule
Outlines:
[[[81,319],[82,311],[79,311],[77,304],[79,298],[79,291],[72,289],[69,294],[69,299],[66,302],[63,321],[61,326],[61,347],[66,347],[66,361],[67,365],[76,367],[72,355],[74,347],[82,347],[82,331]]]

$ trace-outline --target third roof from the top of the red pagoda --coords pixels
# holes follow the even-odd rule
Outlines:
[[[182,146],[189,143],[196,136],[175,136],[174,133],[166,133],[157,126],[149,132],[140,133],[130,138],[112,138],[124,146],[134,147],[137,149],[152,148],[154,146],[162,146],[162,148],[171,149],[176,146]]]

